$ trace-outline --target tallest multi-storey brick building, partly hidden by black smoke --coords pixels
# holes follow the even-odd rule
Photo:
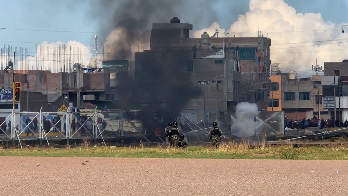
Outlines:
[[[135,53],[135,77],[163,68],[168,76],[189,78],[201,90],[182,110],[192,121],[228,121],[241,101],[258,102],[259,108],[266,110],[270,39],[217,38],[206,32],[200,38],[190,38],[191,29],[192,24],[180,23],[177,18],[153,24],[150,50]]]

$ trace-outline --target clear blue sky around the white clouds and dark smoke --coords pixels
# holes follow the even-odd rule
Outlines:
[[[331,3],[330,0],[285,0],[285,2],[294,7],[297,12],[321,13],[325,21],[331,21],[332,23],[348,21],[347,0],[336,0],[331,1]],[[90,5],[82,0],[0,0],[0,5],[0,13],[3,18],[0,22],[0,28],[99,31],[97,20],[90,20],[93,18]],[[231,7],[231,9],[226,9],[226,7]],[[216,22],[222,28],[228,29],[236,21],[238,14],[244,14],[248,10],[248,0],[221,0],[214,4],[213,9],[217,13]],[[233,14],[231,14],[231,10],[233,10]],[[171,17],[168,16],[169,19]],[[190,22],[190,17],[187,17],[186,21]],[[196,30],[203,29],[210,24],[194,24],[194,28]],[[30,47],[33,51],[34,44],[16,42],[42,43],[43,41],[68,42],[69,40],[76,40],[85,45],[93,45],[93,35],[94,33],[0,29],[0,47],[9,44],[18,47]]]

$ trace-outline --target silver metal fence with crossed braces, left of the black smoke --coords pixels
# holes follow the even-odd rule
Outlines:
[[[16,140],[22,148],[23,140],[69,140],[139,137],[146,138],[147,131],[142,129],[138,120],[124,116],[124,112],[102,112],[80,110],[66,112],[15,112],[0,113],[0,140]],[[6,126],[5,126],[6,125]]]

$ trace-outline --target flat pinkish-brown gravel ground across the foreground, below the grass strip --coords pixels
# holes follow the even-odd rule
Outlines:
[[[346,195],[347,164],[315,160],[0,157],[0,195]]]

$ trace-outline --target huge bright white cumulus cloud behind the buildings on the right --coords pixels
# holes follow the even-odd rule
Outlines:
[[[227,31],[219,29],[219,37],[227,32],[230,36],[256,37],[259,22],[263,36],[271,38],[272,62],[282,63],[284,71],[311,70],[316,59],[321,66],[324,66],[324,62],[348,59],[348,36],[341,32],[342,24],[324,21],[320,13],[296,13],[284,0],[251,0],[249,11],[239,15]],[[215,28],[220,28],[216,22],[193,34],[200,37],[203,31],[207,31],[212,35]],[[331,41],[316,42],[322,40]],[[311,72],[306,74],[310,75]]]

